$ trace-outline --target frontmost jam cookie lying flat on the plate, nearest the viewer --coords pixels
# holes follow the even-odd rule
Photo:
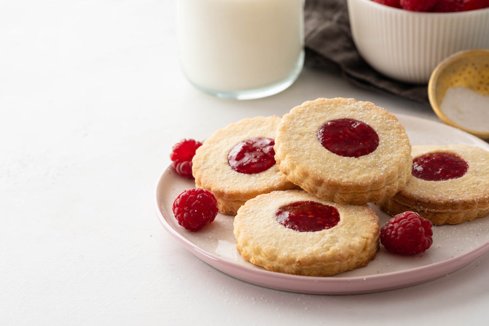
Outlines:
[[[328,276],[375,259],[379,223],[368,205],[343,205],[303,190],[248,200],[234,219],[237,249],[268,270]]]

